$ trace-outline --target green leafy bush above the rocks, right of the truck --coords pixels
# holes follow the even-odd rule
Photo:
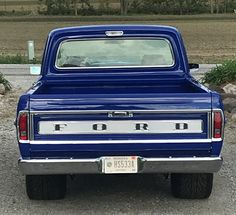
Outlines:
[[[221,86],[236,81],[236,60],[227,60],[206,73],[202,82],[210,85]]]

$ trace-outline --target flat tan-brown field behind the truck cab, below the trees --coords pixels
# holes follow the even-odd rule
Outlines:
[[[0,19],[2,54],[26,55],[26,41],[34,40],[41,56],[50,30],[90,24],[161,24],[177,27],[184,37],[191,62],[220,63],[236,58],[235,16],[130,16],[130,17],[3,17]]]

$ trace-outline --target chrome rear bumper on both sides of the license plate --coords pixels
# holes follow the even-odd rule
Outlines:
[[[222,157],[204,158],[139,158],[138,173],[214,173]],[[19,160],[25,175],[101,174],[102,158],[97,159],[29,159]]]

